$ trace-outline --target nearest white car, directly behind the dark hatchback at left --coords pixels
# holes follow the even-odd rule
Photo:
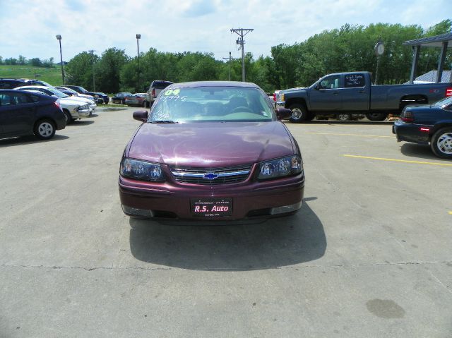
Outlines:
[[[69,124],[76,119],[84,119],[90,117],[95,109],[95,103],[88,99],[83,99],[83,97],[72,97],[60,92],[53,87],[44,87],[40,85],[25,85],[23,87],[17,87],[16,90],[31,90],[42,92],[45,95],[59,97],[59,103],[61,104],[61,109],[66,115],[66,124]],[[90,107],[91,106],[91,107]]]

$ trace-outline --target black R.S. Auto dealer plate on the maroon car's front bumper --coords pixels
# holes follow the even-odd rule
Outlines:
[[[202,218],[230,216],[232,198],[192,198],[191,215]]]

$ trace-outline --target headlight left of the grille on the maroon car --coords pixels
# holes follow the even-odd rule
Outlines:
[[[121,176],[140,181],[165,181],[160,164],[124,158],[119,169]]]

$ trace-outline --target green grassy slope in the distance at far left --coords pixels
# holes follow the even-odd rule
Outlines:
[[[41,68],[29,65],[0,65],[0,78],[35,78],[51,85],[63,85],[61,68]]]

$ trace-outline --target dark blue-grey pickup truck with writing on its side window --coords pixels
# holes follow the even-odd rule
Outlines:
[[[329,74],[310,87],[283,90],[277,104],[292,110],[292,122],[309,121],[316,114],[334,114],[343,121],[365,114],[371,121],[383,121],[408,104],[433,103],[451,95],[452,83],[372,85],[371,74],[359,71]]]

